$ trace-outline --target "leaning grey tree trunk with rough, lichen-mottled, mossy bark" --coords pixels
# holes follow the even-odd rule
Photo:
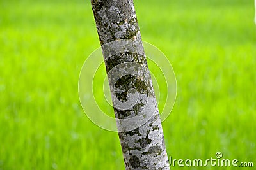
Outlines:
[[[112,98],[115,97],[120,102],[125,103],[129,100],[129,96],[127,96],[129,92],[132,93],[131,91],[135,89],[138,94],[138,101],[126,110],[117,107],[113,101],[125,169],[170,169],[156,97],[144,55],[133,1],[92,0],[92,8],[100,44],[102,45]],[[118,39],[133,39],[134,50],[137,53],[121,50],[124,52],[115,53],[115,55],[109,57],[109,52],[115,49],[109,49],[109,46],[105,48],[104,45]],[[115,48],[121,47],[116,46]],[[118,50],[116,49],[116,51]],[[116,70],[123,72],[120,74],[124,74],[124,76],[119,78],[115,84],[111,83],[111,79],[115,79],[116,76],[114,75],[116,71],[111,72],[111,70],[115,66],[127,62],[139,64],[145,69],[132,67],[138,73],[136,75],[125,74],[131,72],[131,69],[129,70],[130,66],[124,67],[127,69],[123,68],[122,71]],[[143,112],[143,107],[146,104],[150,104],[151,109]],[[141,124],[140,127],[132,131],[127,131],[127,124],[122,124],[119,121],[140,115],[141,112],[145,114],[144,117],[147,117],[147,115],[152,115],[152,117],[150,116],[145,124]],[[135,124],[137,123],[135,122]]]

